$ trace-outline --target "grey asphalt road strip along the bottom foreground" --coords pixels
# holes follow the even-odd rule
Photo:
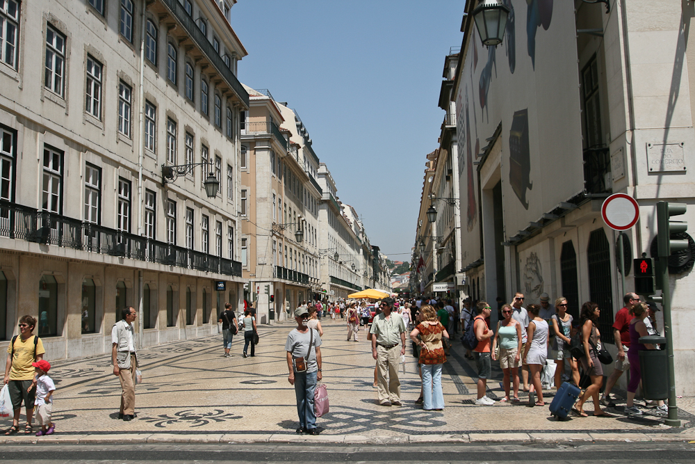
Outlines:
[[[695,464],[690,443],[491,445],[5,445],[3,462],[53,463],[509,463]]]

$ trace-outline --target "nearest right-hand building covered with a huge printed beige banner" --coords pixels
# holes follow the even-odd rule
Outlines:
[[[614,315],[634,289],[630,258],[655,255],[655,203],[685,202],[695,217],[686,168],[695,143],[695,82],[686,72],[695,39],[684,32],[693,6],[504,3],[511,12],[500,47],[482,45],[471,15],[477,2],[466,3],[452,83],[466,291],[509,301],[518,290],[525,303],[562,295],[575,318],[594,301],[601,339],[614,350]],[[624,288],[618,232],[601,217],[603,200],[617,192],[640,208],[624,232]],[[687,366],[695,337],[685,329],[693,260],[676,262],[669,264],[676,390],[693,394]]]

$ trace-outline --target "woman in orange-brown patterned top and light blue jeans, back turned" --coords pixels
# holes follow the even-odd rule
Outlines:
[[[439,322],[432,306],[423,305],[420,312],[423,321],[410,333],[410,339],[420,347],[418,364],[422,373],[423,409],[441,411],[444,408],[441,365],[446,361],[442,338],[448,337],[448,333]]]

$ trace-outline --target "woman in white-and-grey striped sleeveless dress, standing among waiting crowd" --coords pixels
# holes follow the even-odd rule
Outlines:
[[[528,305],[526,310],[532,318],[526,329],[528,339],[523,353],[525,364],[528,364],[531,371],[528,406],[546,406],[543,402],[541,369],[546,365],[548,358],[548,323],[538,315],[541,312],[539,305]],[[534,391],[538,395],[538,401],[534,401]]]

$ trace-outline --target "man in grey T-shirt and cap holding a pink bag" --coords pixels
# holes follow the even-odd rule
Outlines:
[[[287,335],[285,342],[287,367],[290,371],[287,380],[290,385],[295,386],[297,416],[300,419],[297,433],[318,435],[313,394],[316,383],[322,378],[321,336],[317,330],[309,328],[308,319],[309,311],[306,307],[298,307],[295,310],[297,328]]]

